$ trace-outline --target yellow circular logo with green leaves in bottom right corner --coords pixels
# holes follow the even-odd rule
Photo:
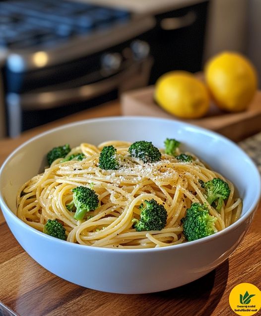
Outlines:
[[[238,315],[255,315],[261,308],[261,291],[251,283],[240,283],[230,292],[229,305]]]

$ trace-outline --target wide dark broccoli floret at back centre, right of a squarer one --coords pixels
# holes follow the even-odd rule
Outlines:
[[[161,159],[161,153],[152,145],[151,142],[138,141],[129,147],[129,153],[131,157],[136,157],[141,159],[143,162],[156,162]]]

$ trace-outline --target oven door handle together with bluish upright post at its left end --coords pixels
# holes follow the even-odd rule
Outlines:
[[[130,89],[130,87],[134,88],[135,84],[137,87],[140,87],[146,84],[152,63],[153,58],[149,56],[144,60],[131,63],[122,72],[109,78],[79,87],[30,92],[22,95],[8,93],[6,96],[6,109],[9,136],[16,137],[21,133],[23,110],[36,111],[71,106],[73,102],[87,101],[115,88],[123,92]]]

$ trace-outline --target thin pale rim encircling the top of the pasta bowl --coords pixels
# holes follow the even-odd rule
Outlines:
[[[240,217],[235,223],[233,223],[232,225],[226,227],[224,230],[219,231],[215,234],[212,234],[210,236],[207,237],[203,237],[200,239],[196,239],[193,241],[189,241],[189,242],[184,242],[184,243],[180,243],[180,244],[176,244],[176,245],[170,245],[170,246],[164,246],[164,247],[154,247],[154,248],[134,248],[134,249],[123,249],[123,248],[106,248],[106,247],[95,247],[95,246],[89,246],[89,245],[82,245],[82,244],[78,244],[78,243],[74,243],[74,242],[69,242],[66,240],[62,240],[59,238],[55,238],[55,237],[51,237],[47,234],[44,234],[36,229],[34,229],[33,227],[27,225],[26,223],[24,223],[21,219],[19,219],[11,210],[10,208],[7,206],[7,204],[4,201],[4,198],[2,196],[2,190],[0,187],[0,204],[3,206],[4,211],[2,210],[2,213],[4,215],[4,212],[7,212],[8,215],[14,220],[14,222],[16,222],[19,226],[24,227],[26,230],[29,229],[32,234],[37,234],[39,235],[39,237],[43,237],[43,238],[47,238],[47,240],[49,239],[50,242],[55,242],[58,244],[66,244],[67,246],[71,246],[71,247],[76,247],[79,249],[86,249],[85,251],[87,251],[88,249],[93,250],[93,251],[108,251],[108,252],[116,252],[116,253],[127,253],[127,252],[151,252],[151,251],[169,251],[169,250],[173,250],[173,249],[179,249],[179,248],[186,248],[186,247],[190,247],[196,244],[202,244],[202,243],[207,243],[210,242],[212,239],[218,238],[221,235],[226,235],[228,234],[230,231],[233,231],[234,229],[236,229],[238,226],[240,226],[243,222],[245,222],[251,215],[252,213],[255,212],[255,210],[258,207],[259,201],[261,199],[261,176],[259,173],[259,170],[256,166],[256,164],[254,163],[254,161],[243,151],[243,149],[241,149],[236,143],[234,143],[233,141],[231,141],[230,139],[228,139],[227,137],[220,135],[214,131],[205,129],[203,127],[200,126],[196,126],[187,122],[183,122],[183,121],[178,121],[175,119],[165,119],[165,118],[155,118],[155,117],[149,117],[149,116],[110,116],[110,117],[99,117],[99,118],[93,118],[93,119],[86,119],[86,120],[81,120],[81,121],[76,121],[76,122],[72,122],[72,123],[68,123],[68,124],[64,124],[61,125],[59,127],[55,127],[52,128],[48,131],[42,132],[32,138],[30,138],[29,140],[25,141],[24,143],[22,143],[21,145],[19,145],[14,151],[12,151],[7,158],[5,158],[4,162],[2,163],[1,167],[0,167],[0,179],[1,179],[1,175],[2,172],[5,168],[5,166],[8,164],[9,160],[11,160],[17,152],[19,152],[23,147],[27,146],[29,143],[38,140],[40,138],[42,138],[43,136],[46,136],[48,134],[52,134],[54,132],[63,130],[63,129],[67,129],[69,127],[73,127],[73,126],[77,126],[77,125],[84,125],[84,124],[89,124],[89,123],[99,123],[99,122],[104,122],[104,121],[128,121],[128,120],[150,120],[150,121],[162,121],[162,122],[174,122],[174,124],[180,125],[180,126],[185,126],[188,127],[190,129],[194,129],[197,131],[202,132],[205,135],[211,136],[211,137],[217,137],[219,139],[221,139],[221,141],[227,143],[229,146],[234,147],[235,149],[241,151],[241,154],[243,156],[245,156],[244,158],[248,160],[248,163],[251,165],[251,167],[255,170],[256,174],[258,175],[257,177],[257,190],[256,192],[258,192],[255,196],[255,199],[253,200],[249,210],[247,210],[247,212]],[[6,222],[7,224],[7,222]],[[7,224],[8,225],[8,224]]]

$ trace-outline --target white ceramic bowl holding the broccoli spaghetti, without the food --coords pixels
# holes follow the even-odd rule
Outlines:
[[[107,140],[147,140],[163,147],[176,138],[187,150],[230,179],[243,198],[241,218],[222,232],[180,245],[154,249],[83,246],[49,237],[15,216],[18,188],[43,171],[53,147]],[[114,293],[149,293],[175,288],[207,274],[235,250],[248,230],[260,199],[259,172],[252,160],[228,139],[174,120],[115,117],[65,125],[20,146],[0,169],[0,206],[21,246],[40,265],[78,285]]]

